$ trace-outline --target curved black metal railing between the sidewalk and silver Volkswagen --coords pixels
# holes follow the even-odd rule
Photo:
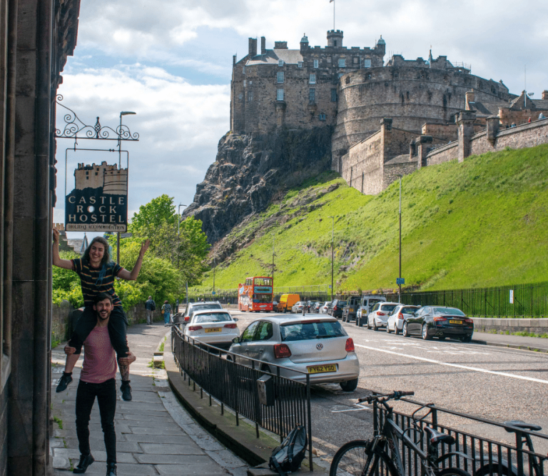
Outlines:
[[[240,416],[245,417],[255,423],[257,437],[259,427],[262,427],[279,435],[280,441],[296,425],[303,425],[308,432],[308,457],[310,471],[313,471],[310,374],[249,357],[245,357],[245,360],[250,367],[240,365],[234,362],[236,355],[232,352],[196,342],[175,325],[171,328],[171,346],[183,379],[188,377],[189,386],[192,380],[194,390],[198,385],[202,397],[203,392],[206,392],[210,406],[212,397],[218,400],[221,415],[225,406],[233,410],[236,425],[240,424]],[[268,365],[270,372],[265,371],[265,365]],[[306,382],[282,377],[280,370],[303,374]],[[260,402],[257,385],[258,379],[265,375],[271,376],[273,400],[269,405]]]

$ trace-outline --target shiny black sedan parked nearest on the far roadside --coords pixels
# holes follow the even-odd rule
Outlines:
[[[456,307],[425,306],[415,312],[403,323],[402,334],[405,337],[420,335],[430,340],[438,337],[457,337],[462,342],[470,342],[474,333],[474,321]]]

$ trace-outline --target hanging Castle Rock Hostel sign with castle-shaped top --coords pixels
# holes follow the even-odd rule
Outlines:
[[[126,232],[128,169],[118,165],[78,164],[74,189],[65,198],[68,232]]]

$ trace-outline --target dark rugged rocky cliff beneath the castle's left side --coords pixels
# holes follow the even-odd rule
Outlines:
[[[183,217],[201,219],[208,242],[218,242],[291,187],[329,170],[331,132],[331,127],[320,127],[262,137],[226,134]]]

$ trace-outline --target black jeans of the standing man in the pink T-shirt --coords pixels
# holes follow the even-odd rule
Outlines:
[[[82,382],[76,392],[76,435],[78,448],[82,455],[89,455],[89,418],[93,403],[97,397],[101,413],[101,427],[105,437],[106,462],[116,463],[116,432],[114,415],[116,413],[116,380],[111,379],[100,384]]]

